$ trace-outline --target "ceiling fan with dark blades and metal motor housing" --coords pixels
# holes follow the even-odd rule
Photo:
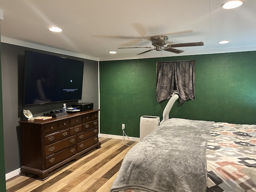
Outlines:
[[[152,50],[157,50],[157,51],[169,51],[169,52],[173,52],[173,53],[182,53],[184,51],[182,50],[178,50],[175,49],[174,47],[190,47],[190,46],[203,46],[204,43],[203,42],[193,42],[193,43],[178,43],[178,44],[169,44],[166,45],[166,42],[168,40],[168,36],[164,36],[164,35],[158,35],[158,36],[152,36],[150,37],[150,40],[152,42],[152,45],[154,47],[120,47],[118,49],[127,49],[127,48],[150,48],[149,50],[146,50],[144,52],[139,53],[140,54],[144,54],[147,52],[150,52]],[[166,46],[165,46],[166,45]]]

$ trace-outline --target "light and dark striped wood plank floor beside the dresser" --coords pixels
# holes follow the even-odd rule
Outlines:
[[[125,154],[130,150],[120,139],[99,138],[100,149],[69,162],[40,181],[34,175],[6,181],[6,192],[109,192]],[[137,142],[124,141],[134,145]]]

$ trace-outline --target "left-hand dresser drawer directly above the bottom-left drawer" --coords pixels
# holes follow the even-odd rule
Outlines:
[[[59,152],[69,146],[76,144],[76,136],[71,136],[69,138],[60,140],[54,144],[50,144],[44,147],[45,157]]]

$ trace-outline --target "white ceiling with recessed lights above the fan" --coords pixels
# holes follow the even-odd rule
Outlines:
[[[1,0],[2,42],[28,42],[95,60],[152,58],[256,50],[256,0],[232,10],[227,0]],[[51,26],[63,29],[50,32]],[[147,48],[150,36],[169,42],[204,42],[181,54]],[[229,44],[218,44],[229,40]],[[19,43],[17,43],[19,44]],[[109,54],[116,51],[116,54]]]

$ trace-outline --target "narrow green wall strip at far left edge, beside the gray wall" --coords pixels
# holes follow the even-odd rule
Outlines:
[[[0,74],[1,70],[1,40],[0,40]],[[5,167],[4,167],[4,126],[3,126],[3,97],[2,97],[2,78],[0,78],[0,191],[6,191]]]

